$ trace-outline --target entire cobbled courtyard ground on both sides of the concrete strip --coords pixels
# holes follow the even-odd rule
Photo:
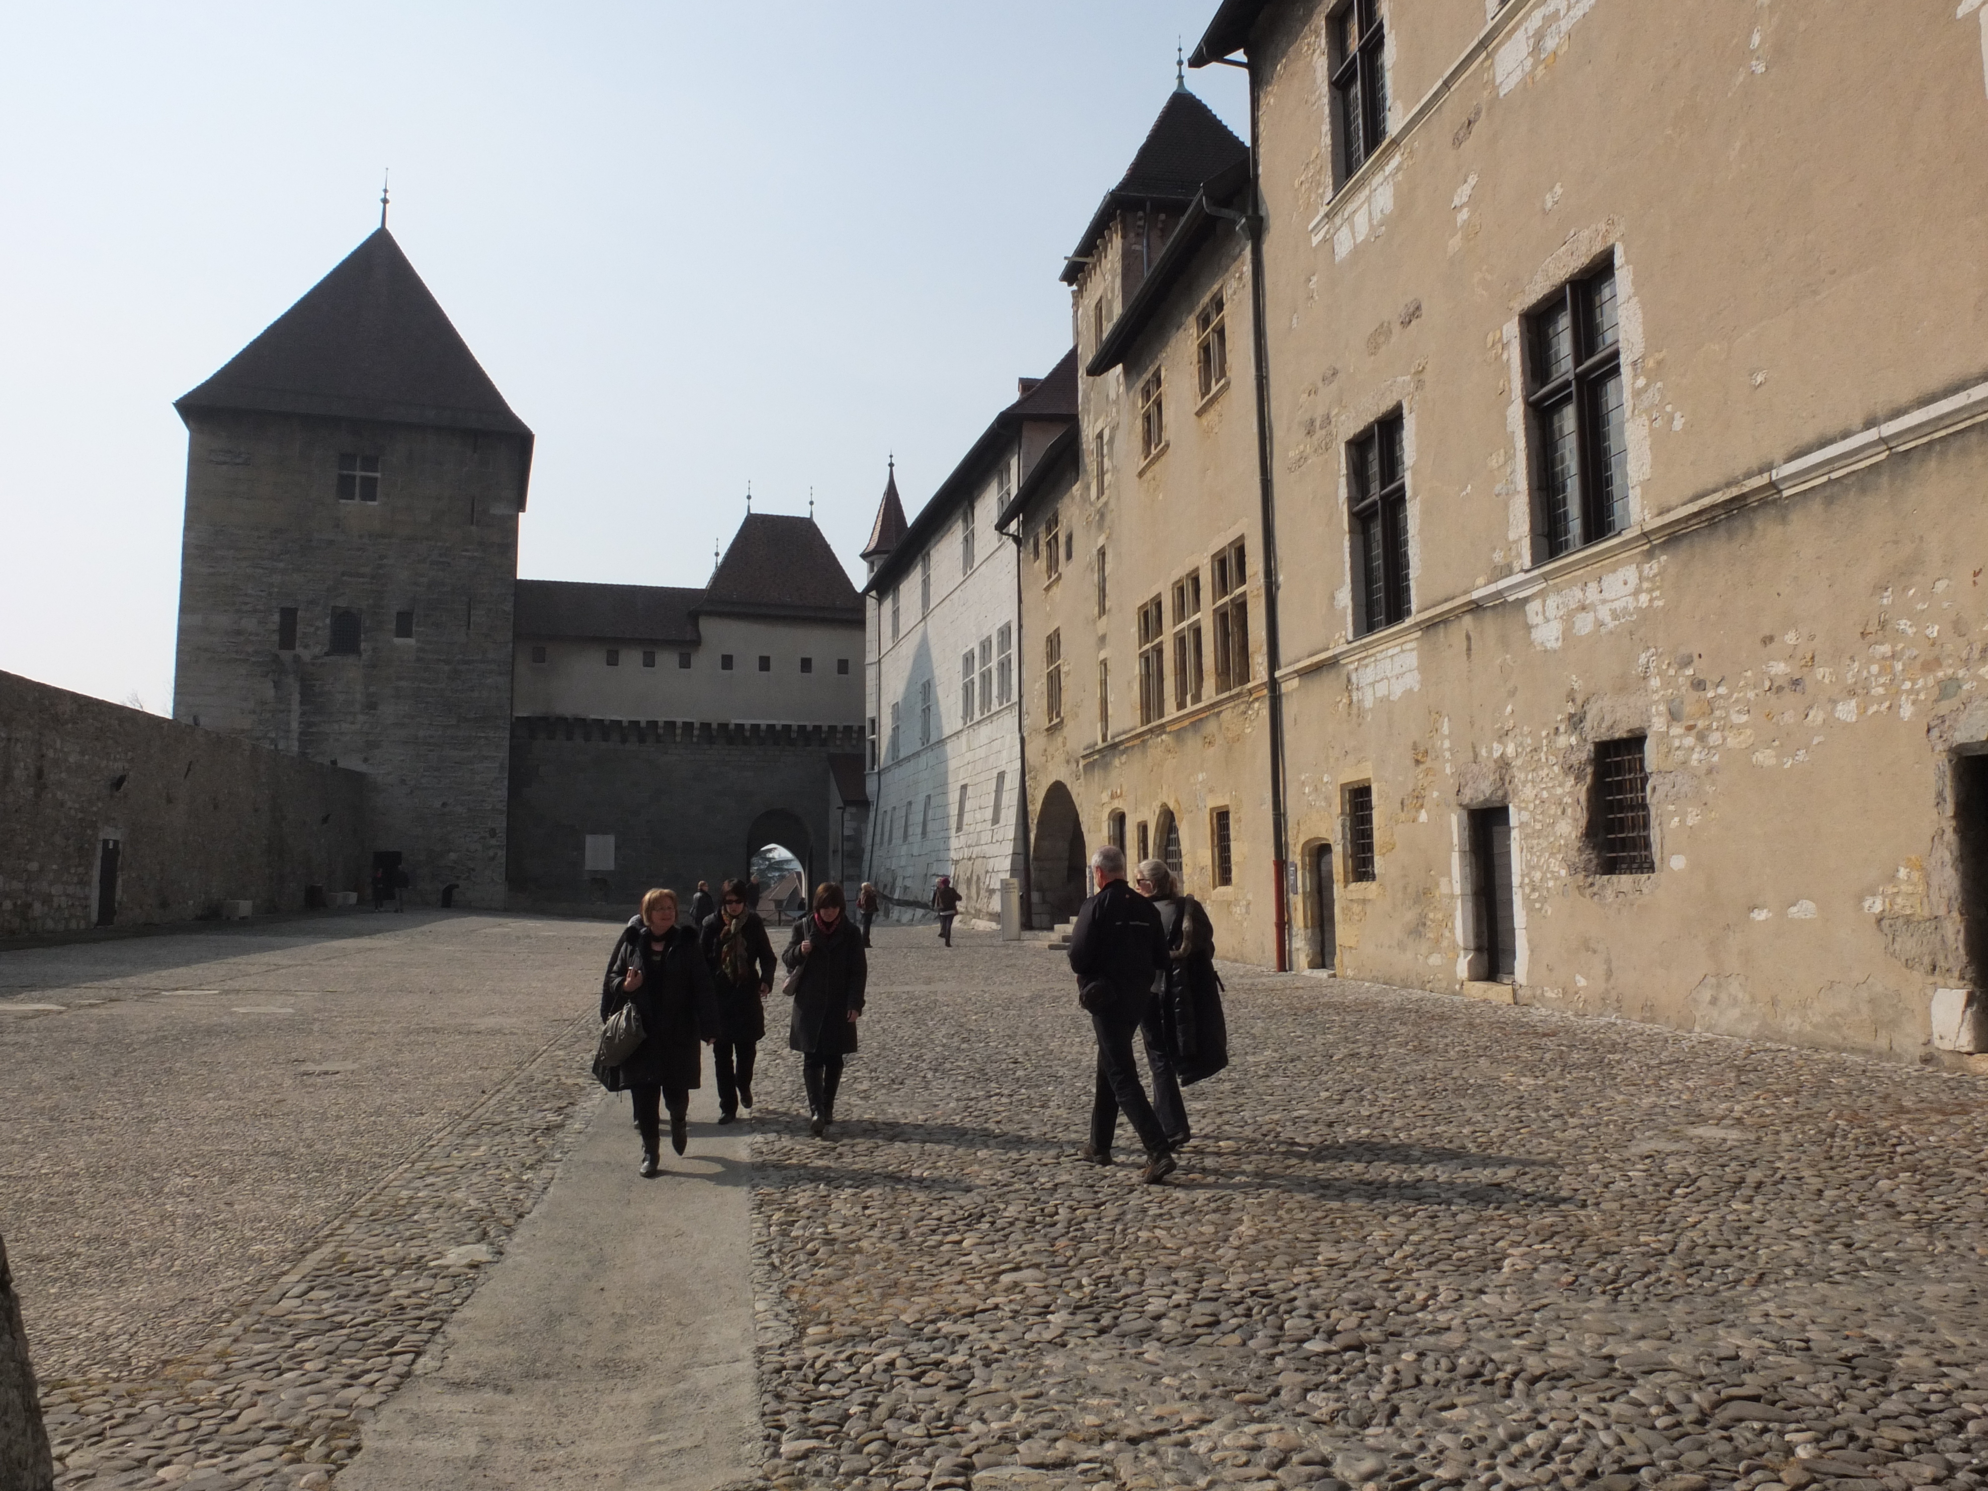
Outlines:
[[[326,1485],[573,1143],[610,938],[0,954],[62,1485]],[[879,928],[835,1141],[761,1048],[775,1491],[1988,1481],[1976,1077],[1229,968],[1237,1062],[1143,1187],[1129,1135],[1076,1159],[1062,956],[956,940]]]

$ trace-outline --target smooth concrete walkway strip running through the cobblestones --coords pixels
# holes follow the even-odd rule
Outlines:
[[[716,1117],[712,1085],[692,1093],[690,1153],[670,1153],[664,1119],[664,1173],[644,1181],[628,1099],[602,1097],[338,1491],[710,1491],[755,1475],[747,1125]]]

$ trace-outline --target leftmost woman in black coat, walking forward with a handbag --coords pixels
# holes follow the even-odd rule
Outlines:
[[[642,1129],[642,1175],[656,1175],[662,1129],[658,1105],[670,1107],[670,1147],[684,1153],[690,1089],[704,1085],[700,1040],[718,1036],[718,998],[704,966],[698,930],[676,920],[676,891],[650,891],[642,914],[622,928],[600,980],[600,1020],[624,1004],[642,1016],[642,1044],[618,1068],[600,1074],[608,1091],[626,1087]]]

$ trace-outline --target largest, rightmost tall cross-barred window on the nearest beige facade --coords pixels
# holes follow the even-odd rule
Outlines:
[[[1527,318],[1535,523],[1543,559],[1628,527],[1628,433],[1614,270],[1573,280]]]

